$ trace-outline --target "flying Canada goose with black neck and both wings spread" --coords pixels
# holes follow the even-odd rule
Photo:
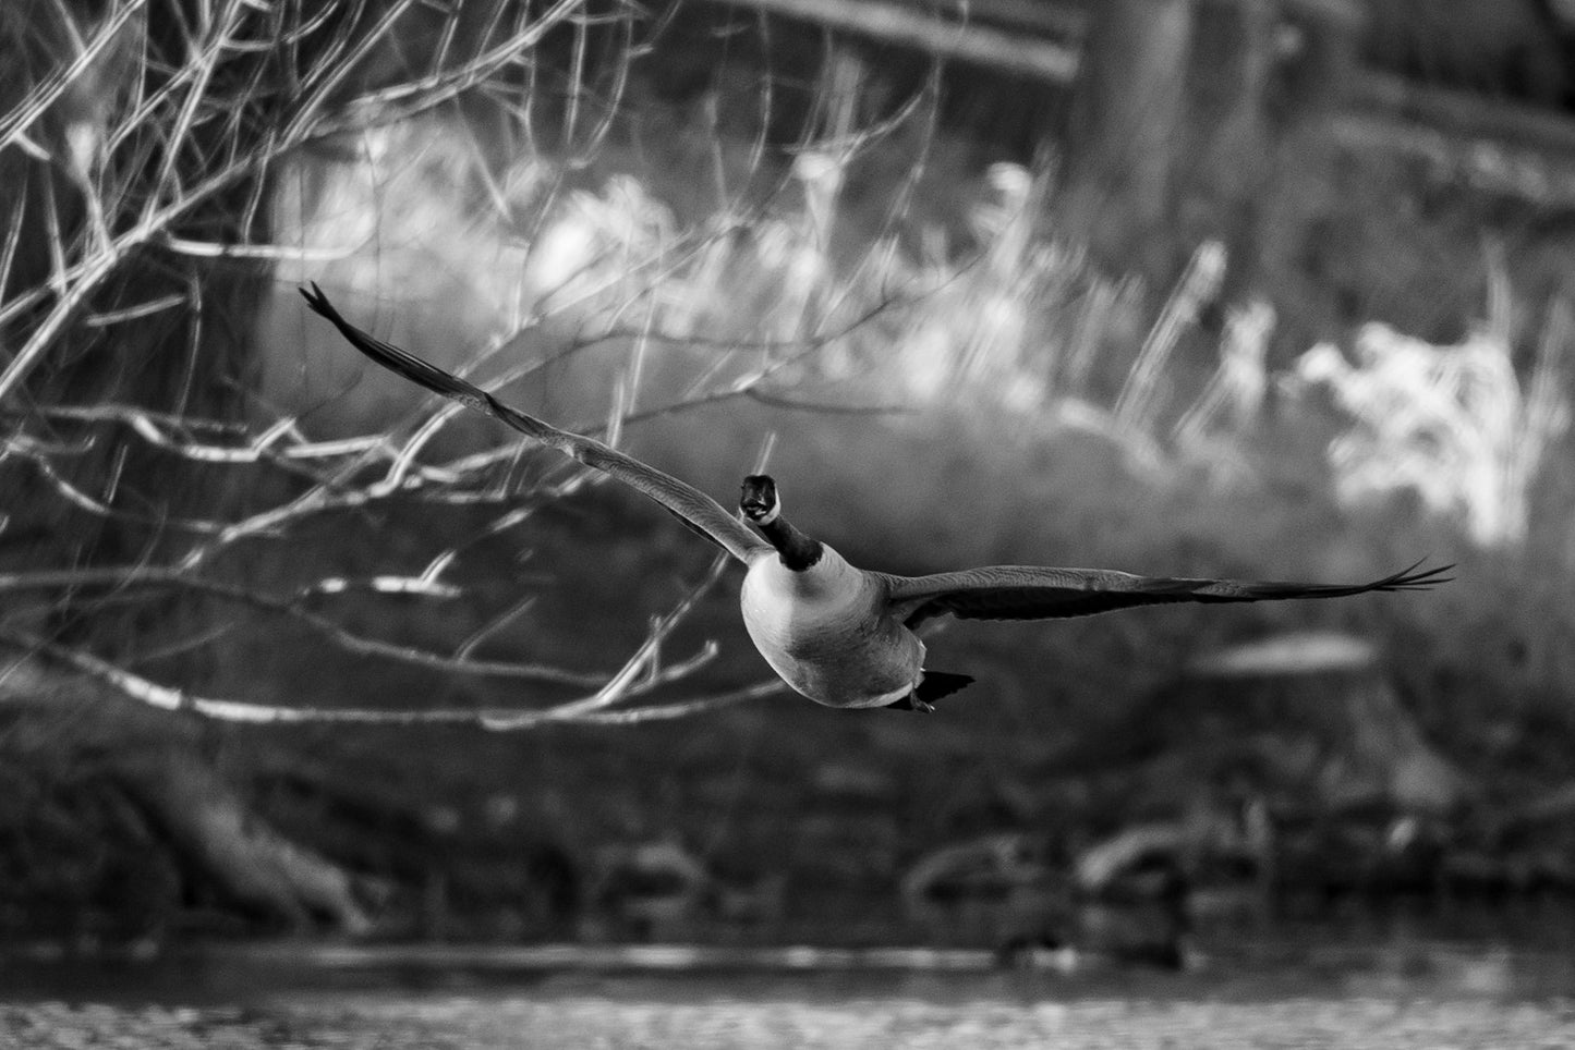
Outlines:
[[[931,576],[855,568],[783,518],[776,482],[764,474],[745,477],[739,497],[739,510],[756,534],[693,485],[594,438],[510,408],[476,384],[361,331],[340,316],[315,283],[301,288],[301,294],[376,364],[610,474],[743,562],[748,571],[740,604],[756,649],[789,686],[827,707],[931,712],[937,699],[973,682],[964,674],[925,669],[925,642],[914,628],[947,612],[959,619],[1040,620],[1164,601],[1340,598],[1447,582],[1443,573],[1449,565],[1419,571],[1421,562],[1366,584],[1172,579],[1038,565],[992,565]]]

